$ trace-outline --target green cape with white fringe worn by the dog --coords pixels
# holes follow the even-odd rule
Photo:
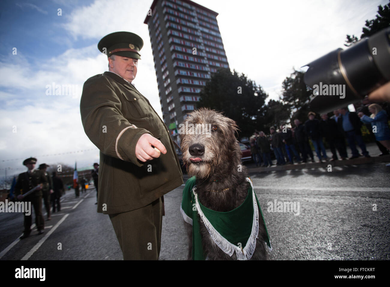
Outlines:
[[[248,196],[239,207],[228,212],[218,212],[203,206],[195,192],[195,181],[195,176],[187,180],[181,202],[181,213],[184,221],[192,225],[193,260],[205,260],[199,230],[199,218],[202,219],[211,238],[223,252],[232,256],[236,251],[238,260],[250,259],[255,251],[256,238],[259,233],[259,211],[257,208],[259,207],[259,201],[254,193],[250,178],[246,178],[246,181],[250,183]],[[272,250],[260,207],[259,210],[267,233],[266,244]]]

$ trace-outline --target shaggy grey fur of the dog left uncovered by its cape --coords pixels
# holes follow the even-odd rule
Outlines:
[[[248,195],[250,184],[245,181],[247,170],[241,165],[241,149],[235,133],[236,122],[214,110],[201,108],[188,114],[183,124],[193,124],[188,130],[179,130],[183,162],[187,165],[189,176],[196,176],[199,201],[207,208],[220,212],[235,209]],[[205,132],[199,133],[196,124],[204,124]],[[188,125],[191,126],[191,125]],[[208,127],[211,127],[209,130]],[[194,162],[194,158],[202,161]],[[193,159],[191,161],[191,159]],[[218,180],[218,181],[214,181]],[[226,191],[222,191],[223,189]],[[213,192],[218,191],[218,192]],[[259,211],[259,235],[251,260],[266,259],[267,235]],[[189,236],[189,256],[192,250],[192,227],[184,223]],[[200,222],[200,233],[205,254],[210,260],[235,260],[236,253],[230,257],[211,239],[206,226]],[[243,244],[245,246],[246,242]]]

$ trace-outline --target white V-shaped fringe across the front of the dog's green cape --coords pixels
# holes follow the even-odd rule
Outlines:
[[[195,204],[197,207],[197,211],[199,213],[200,219],[206,226],[211,239],[215,242],[215,244],[221,248],[223,252],[225,252],[227,255],[232,256],[234,251],[236,251],[236,256],[238,260],[249,260],[253,253],[255,252],[256,248],[256,238],[259,235],[259,209],[257,207],[256,197],[255,197],[255,191],[253,189],[253,185],[251,180],[247,177],[245,178],[247,182],[250,183],[250,186],[252,187],[252,199],[253,199],[253,223],[252,223],[252,232],[250,237],[248,238],[248,241],[246,242],[246,245],[244,248],[240,248],[229,241],[227,241],[218,231],[215,230],[213,225],[211,225],[210,221],[204,216],[202,210],[200,209],[200,205],[198,202],[198,195],[195,193],[196,186],[193,187],[192,192],[195,195]]]

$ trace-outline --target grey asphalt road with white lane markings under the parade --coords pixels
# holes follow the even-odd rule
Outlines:
[[[269,259],[389,260],[389,172],[385,164],[370,164],[335,167],[332,172],[250,173],[271,237]],[[160,260],[186,258],[179,210],[183,187],[164,196]],[[35,229],[22,241],[23,215],[0,213],[0,260],[121,260],[110,219],[96,212],[95,189],[80,198],[67,191],[62,200],[61,212],[45,221],[45,233],[35,235]],[[299,215],[268,212],[275,200],[299,203]]]

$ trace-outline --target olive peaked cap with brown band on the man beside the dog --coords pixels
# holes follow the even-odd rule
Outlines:
[[[131,32],[114,32],[104,36],[97,48],[100,52],[110,57],[119,55],[133,59],[141,59],[140,50],[144,46],[144,41],[137,34]]]

